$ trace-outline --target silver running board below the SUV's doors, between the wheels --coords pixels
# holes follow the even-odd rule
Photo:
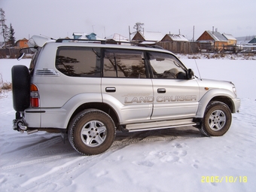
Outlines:
[[[136,131],[145,131],[145,130],[162,130],[175,128],[180,126],[194,126],[197,123],[193,122],[193,119],[184,119],[184,120],[165,120],[165,121],[157,121],[151,123],[136,123],[126,125],[126,130],[129,132]]]

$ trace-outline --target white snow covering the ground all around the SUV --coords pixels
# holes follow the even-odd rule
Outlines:
[[[181,61],[202,78],[233,81],[242,105],[230,130],[203,137],[192,126],[117,133],[108,151],[81,156],[56,133],[12,130],[12,93],[0,99],[0,191],[255,191],[255,60]],[[4,81],[11,67],[30,59],[0,59]],[[204,178],[205,177],[205,178]],[[211,182],[212,179],[212,182]],[[204,182],[203,182],[204,181]]]

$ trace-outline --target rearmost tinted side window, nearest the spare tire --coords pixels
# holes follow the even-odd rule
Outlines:
[[[100,49],[95,47],[59,47],[56,69],[72,77],[100,77]]]

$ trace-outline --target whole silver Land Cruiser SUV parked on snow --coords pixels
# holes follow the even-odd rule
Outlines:
[[[239,109],[234,84],[195,77],[167,50],[36,35],[29,44],[29,69],[12,69],[14,130],[68,134],[81,154],[106,151],[116,130],[222,136]]]

